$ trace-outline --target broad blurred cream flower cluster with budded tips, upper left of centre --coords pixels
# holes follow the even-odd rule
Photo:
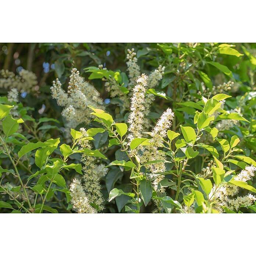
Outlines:
[[[66,125],[68,131],[81,123],[89,124],[93,117],[90,116],[88,105],[98,109],[104,109],[103,100],[100,93],[88,82],[80,77],[76,68],[71,70],[68,91],[61,87],[61,82],[57,78],[51,86],[51,95],[56,99],[59,106],[65,107],[62,111],[63,117],[69,121]]]

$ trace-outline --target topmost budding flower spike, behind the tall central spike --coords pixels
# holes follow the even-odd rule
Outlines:
[[[137,64],[138,58],[136,58],[136,53],[134,51],[134,48],[127,49],[127,71],[128,71],[128,77],[129,77],[129,83],[128,83],[128,90],[131,90],[134,86],[137,77],[141,74],[141,68]]]

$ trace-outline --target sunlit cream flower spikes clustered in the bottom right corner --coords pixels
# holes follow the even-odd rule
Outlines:
[[[236,181],[247,182],[255,175],[255,166],[246,166],[244,170],[241,171],[237,176],[234,177]],[[230,198],[237,195],[239,192],[238,186],[225,184],[216,189],[214,185],[209,198],[214,202],[214,209],[219,212],[223,212],[223,207],[227,207],[230,210],[238,210],[241,205],[248,207],[256,201],[256,196],[248,194],[246,196],[238,196],[237,198]]]

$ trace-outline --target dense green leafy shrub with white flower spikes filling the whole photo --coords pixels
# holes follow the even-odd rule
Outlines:
[[[1,213],[256,212],[256,44],[1,43]]]

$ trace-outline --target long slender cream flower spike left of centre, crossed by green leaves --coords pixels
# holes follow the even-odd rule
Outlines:
[[[79,140],[79,145],[81,149],[92,149],[91,143],[87,140],[84,139],[88,137],[88,133],[86,132],[85,128],[81,128],[80,132],[82,133],[82,137]],[[96,205],[97,209],[103,210],[103,196],[102,193],[100,192],[101,185],[100,185],[100,177],[98,174],[98,168],[95,164],[95,157],[93,156],[87,156],[86,154],[82,154],[81,156],[81,161],[83,162],[83,181],[84,185],[83,188],[87,192],[86,196],[89,200],[89,202],[93,203]],[[105,170],[106,171],[106,170]]]

